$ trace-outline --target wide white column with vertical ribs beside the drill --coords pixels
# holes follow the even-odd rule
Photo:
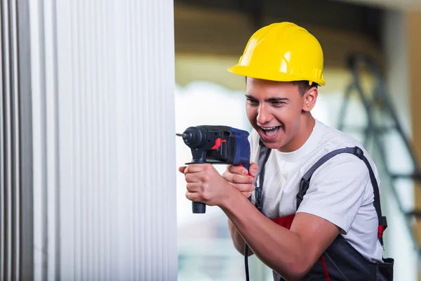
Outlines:
[[[36,280],[176,280],[173,1],[29,3]]]

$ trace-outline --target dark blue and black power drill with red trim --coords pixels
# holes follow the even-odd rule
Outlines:
[[[229,126],[191,126],[181,136],[192,149],[193,163],[233,164],[250,167],[250,143],[248,131]],[[194,214],[206,213],[206,204],[192,202]]]

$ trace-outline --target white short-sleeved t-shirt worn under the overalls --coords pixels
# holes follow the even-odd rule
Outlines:
[[[249,140],[250,160],[258,163],[259,136],[255,130],[250,133]],[[355,155],[341,153],[321,165],[314,172],[304,200],[296,210],[302,176],[328,152],[354,146],[363,150],[380,187],[376,166],[362,145],[316,120],[312,134],[301,148],[293,152],[272,150],[270,153],[265,165],[262,211],[268,218],[288,216],[296,211],[324,218],[338,226],[343,237],[367,259],[382,261],[373,186],[366,164]],[[255,203],[254,192],[252,202]]]

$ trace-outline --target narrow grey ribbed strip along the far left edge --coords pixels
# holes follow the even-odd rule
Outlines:
[[[0,280],[20,280],[20,105],[15,1],[0,1]]]

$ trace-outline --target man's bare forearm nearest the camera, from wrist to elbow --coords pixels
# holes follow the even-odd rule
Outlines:
[[[232,235],[232,230],[238,233],[238,237],[235,232],[233,236],[233,240],[234,237],[237,240],[234,240],[237,250],[241,248],[241,243],[235,243],[246,240],[261,261],[288,280],[298,280],[311,266],[300,237],[260,214],[246,197],[234,195],[221,208],[233,225],[230,226]]]

